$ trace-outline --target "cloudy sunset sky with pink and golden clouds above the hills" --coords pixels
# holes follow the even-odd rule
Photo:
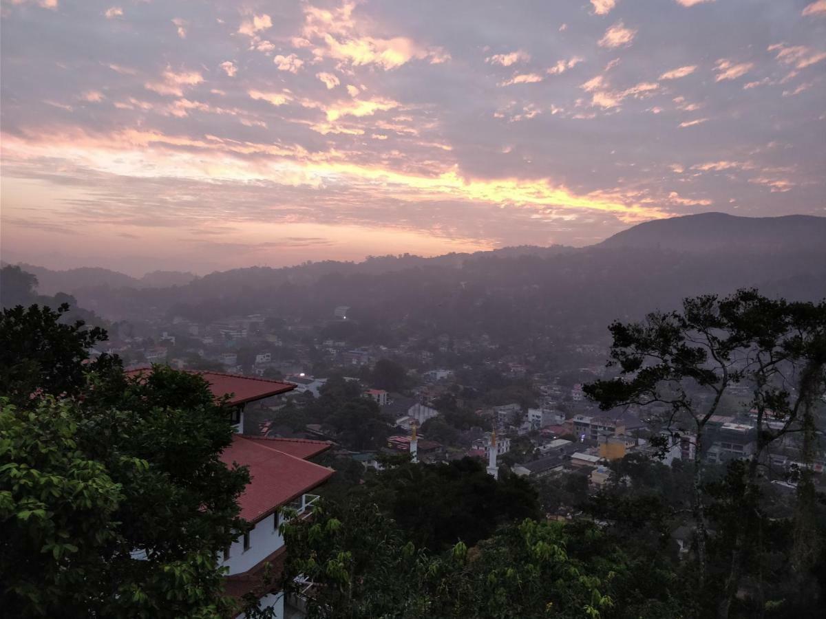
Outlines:
[[[0,257],[211,272],[826,215],[826,0],[2,0]]]

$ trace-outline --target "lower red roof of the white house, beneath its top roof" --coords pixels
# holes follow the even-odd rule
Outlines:
[[[230,447],[221,452],[221,461],[226,465],[249,466],[251,479],[238,499],[240,515],[244,520],[258,522],[333,475],[332,469],[287,452],[310,451],[309,443],[316,443],[317,447],[313,448],[320,447],[316,453],[330,447],[330,443],[325,441],[284,441],[240,434],[232,438]]]

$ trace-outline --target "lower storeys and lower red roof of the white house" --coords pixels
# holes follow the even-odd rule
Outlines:
[[[221,452],[226,465],[249,467],[250,482],[238,499],[251,528],[225,549],[219,563],[226,568],[224,586],[235,599],[253,594],[262,608],[283,619],[298,612],[278,584],[287,548],[282,524],[307,517],[318,499],[310,494],[333,475],[333,470],[307,461],[330,448],[330,442],[236,435]],[[243,613],[237,617],[243,617]]]

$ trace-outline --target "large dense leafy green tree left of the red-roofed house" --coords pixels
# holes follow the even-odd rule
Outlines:
[[[13,316],[0,338],[26,339],[33,324],[40,347],[5,371],[37,367],[62,395],[13,405],[0,392],[0,607],[14,617],[228,612],[217,560],[246,527],[236,499],[249,475],[218,457],[232,440],[224,406],[200,376],[84,364],[88,334],[61,328],[58,313]],[[71,380],[50,372],[51,358]]]

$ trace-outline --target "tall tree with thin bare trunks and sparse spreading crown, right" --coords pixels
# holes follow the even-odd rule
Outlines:
[[[703,499],[703,437],[706,425],[732,385],[752,388],[757,411],[757,454],[745,469],[754,488],[757,466],[771,442],[800,423],[802,405],[823,385],[826,362],[826,303],[771,300],[754,290],[725,298],[703,295],[683,301],[682,312],[655,312],[642,323],[610,325],[609,366],[619,376],[584,390],[601,409],[620,404],[664,404],[669,430],[695,434],[692,510],[700,587],[707,563]],[[767,427],[768,421],[781,428]],[[748,492],[752,492],[752,490]],[[748,497],[747,497],[748,499]],[[744,504],[748,504],[749,500]],[[740,527],[719,617],[728,609],[742,576],[744,551],[753,532]]]

